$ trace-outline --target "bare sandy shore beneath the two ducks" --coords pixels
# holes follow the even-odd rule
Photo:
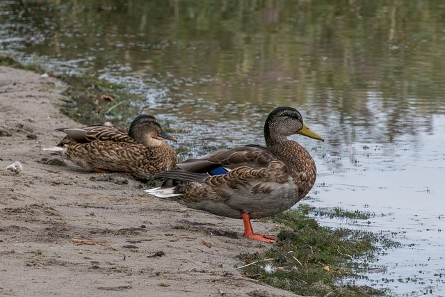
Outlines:
[[[58,111],[63,88],[0,67],[1,296],[296,296],[234,268],[239,253],[270,248],[243,238],[241,220],[150,197],[131,177],[84,172],[43,152],[63,137],[54,129],[81,126]],[[23,170],[6,170],[15,161]],[[274,232],[270,223],[254,227]]]

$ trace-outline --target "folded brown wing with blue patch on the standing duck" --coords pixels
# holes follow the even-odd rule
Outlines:
[[[225,173],[240,167],[267,168],[277,157],[261,145],[245,145],[219,150],[200,159],[189,159],[178,163],[177,168],[158,173],[155,179],[172,179],[181,182],[203,182],[212,175]]]

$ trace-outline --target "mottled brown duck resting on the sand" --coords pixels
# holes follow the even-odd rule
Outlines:
[[[166,133],[152,115],[138,115],[129,128],[92,125],[57,130],[65,132],[65,138],[43,150],[58,152],[87,171],[124,172],[145,181],[177,163],[173,147],[158,139],[177,138]]]

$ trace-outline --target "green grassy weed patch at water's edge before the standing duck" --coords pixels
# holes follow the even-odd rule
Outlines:
[[[387,295],[387,289],[357,286],[346,280],[353,283],[354,278],[363,277],[360,273],[373,268],[380,250],[398,243],[373,232],[323,227],[307,216],[309,211],[314,209],[301,204],[294,211],[274,216],[273,221],[282,226],[279,240],[265,252],[238,255],[244,264],[253,263],[241,271],[249,278],[303,296]],[[272,271],[265,270],[266,264],[272,265]]]

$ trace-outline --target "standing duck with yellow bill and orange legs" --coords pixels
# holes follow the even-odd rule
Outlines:
[[[309,129],[299,111],[279,106],[264,124],[266,146],[244,145],[218,150],[177,163],[154,175],[161,186],[145,192],[168,198],[192,209],[243,220],[243,236],[273,243],[277,237],[255,233],[251,219],[289,209],[309,193],[316,180],[312,156],[288,136],[324,139]]]

